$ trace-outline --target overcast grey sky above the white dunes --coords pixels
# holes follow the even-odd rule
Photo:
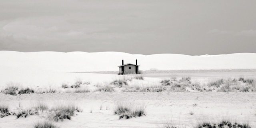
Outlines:
[[[256,53],[256,0],[1,0],[0,50]]]

